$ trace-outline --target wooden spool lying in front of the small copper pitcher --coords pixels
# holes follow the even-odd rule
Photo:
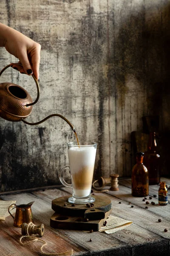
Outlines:
[[[34,225],[32,222],[23,223],[22,224],[22,235],[23,236],[32,236],[34,234],[38,234],[39,236],[43,236],[44,234],[44,224],[40,224],[40,226]]]

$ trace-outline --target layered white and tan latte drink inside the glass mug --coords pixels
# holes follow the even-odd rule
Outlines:
[[[71,147],[68,149],[72,187],[75,196],[88,196],[94,173],[96,148],[91,146]]]

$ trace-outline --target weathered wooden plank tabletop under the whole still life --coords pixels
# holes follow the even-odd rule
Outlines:
[[[170,179],[161,178],[161,180],[166,181],[170,186]],[[111,199],[112,215],[133,221],[130,226],[113,234],[58,230],[50,227],[50,217],[54,213],[51,209],[51,201],[54,198],[70,194],[71,190],[68,188],[59,186],[56,189],[45,189],[44,191],[8,195],[1,193],[0,198],[16,200],[17,204],[35,201],[31,209],[35,224],[45,224],[42,239],[47,242],[44,249],[46,253],[61,253],[73,249],[73,255],[79,256],[162,256],[162,253],[170,255],[170,197],[167,206],[158,205],[158,196],[147,200],[155,202],[155,205],[146,205],[146,202],[142,201],[143,198],[131,196],[130,187],[130,179],[119,179],[119,191],[97,194]],[[109,187],[105,187],[105,189],[109,189]],[[149,196],[158,195],[158,189],[158,185],[150,186]],[[145,209],[146,206],[148,209]],[[159,218],[161,218],[161,222],[158,222]],[[168,230],[166,233],[164,232],[165,228]],[[13,226],[11,216],[7,217],[6,221],[0,221],[0,256],[41,255],[42,244],[39,241],[22,246],[19,243],[20,236],[21,229]]]

